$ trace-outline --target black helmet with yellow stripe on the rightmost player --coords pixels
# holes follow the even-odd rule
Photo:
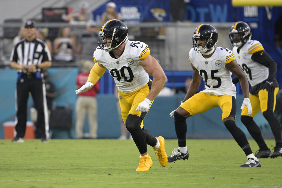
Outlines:
[[[229,39],[232,46],[241,46],[251,39],[250,26],[244,21],[238,21],[231,26]]]

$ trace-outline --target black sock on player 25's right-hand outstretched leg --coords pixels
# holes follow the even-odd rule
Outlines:
[[[241,129],[239,129],[239,127],[236,126],[235,121],[227,120],[227,121],[224,122],[224,125],[225,125],[226,129],[234,137],[234,139],[238,143],[238,145],[245,152],[246,156],[253,153],[252,150],[251,150],[251,147],[249,145],[249,142],[246,138],[245,133]]]

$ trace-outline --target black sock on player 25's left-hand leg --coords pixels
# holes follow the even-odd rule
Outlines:
[[[174,111],[174,127],[177,135],[178,147],[185,147],[187,132],[186,117],[183,117],[176,111]]]

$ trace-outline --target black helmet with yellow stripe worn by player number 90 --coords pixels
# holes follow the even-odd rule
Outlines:
[[[104,43],[105,38],[110,38],[111,42]],[[107,52],[119,47],[122,43],[128,40],[128,28],[120,20],[109,20],[101,28],[99,32],[99,46]],[[109,44],[109,46],[105,46]]]

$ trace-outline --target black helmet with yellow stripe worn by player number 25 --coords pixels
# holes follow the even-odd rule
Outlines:
[[[197,43],[197,41],[203,41],[201,43]],[[205,53],[208,50],[214,48],[218,40],[218,33],[214,26],[209,24],[201,24],[196,27],[194,31],[194,35],[192,37],[192,45],[195,51],[200,53]],[[203,47],[203,45],[205,45]]]

